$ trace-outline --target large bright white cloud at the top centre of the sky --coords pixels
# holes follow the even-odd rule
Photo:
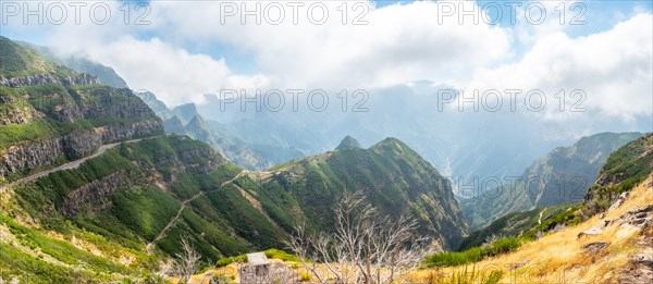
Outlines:
[[[262,9],[268,3],[263,2]],[[218,40],[252,52],[260,71],[284,87],[387,86],[484,65],[509,51],[508,35],[500,27],[472,21],[459,25],[457,14],[439,23],[442,4],[438,2],[380,9],[368,3],[371,10],[362,20],[369,24],[360,26],[350,24],[358,15],[354,11],[347,15],[348,24],[341,23],[338,1],[324,2],[330,15],[325,24],[311,24],[305,14],[309,3],[297,10],[299,25],[292,24],[286,7],[286,20],[278,26],[266,24],[264,18],[256,25],[254,17],[243,25],[237,16],[226,17],[226,24],[220,25],[224,9],[215,2],[153,2],[152,11],[153,22],[174,29],[175,38]],[[467,9],[476,5],[470,1],[463,4]]]

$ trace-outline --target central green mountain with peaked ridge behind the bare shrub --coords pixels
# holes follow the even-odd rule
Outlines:
[[[369,149],[343,149],[308,157],[271,169],[275,171],[261,199],[303,211],[315,226],[329,224],[331,205],[343,190],[364,190],[370,201],[390,214],[410,212],[418,219],[421,233],[454,248],[466,234],[467,223],[453,197],[446,178],[404,143],[387,138]],[[282,193],[291,185],[292,198],[268,194]],[[288,202],[287,200],[293,200]],[[280,223],[289,225],[291,217]],[[318,221],[318,222],[316,222]]]

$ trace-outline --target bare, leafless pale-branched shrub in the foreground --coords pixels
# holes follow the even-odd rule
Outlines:
[[[345,193],[334,208],[335,232],[308,234],[296,225],[288,242],[304,267],[321,283],[390,283],[415,270],[434,251],[416,234],[408,214],[382,215],[360,192]]]

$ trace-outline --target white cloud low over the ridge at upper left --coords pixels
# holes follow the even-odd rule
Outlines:
[[[91,58],[114,66],[133,89],[152,91],[171,106],[201,102],[204,94],[218,94],[224,88],[254,89],[266,87],[268,83],[262,75],[233,74],[224,59],[190,54],[158,38],[124,37],[86,51]]]

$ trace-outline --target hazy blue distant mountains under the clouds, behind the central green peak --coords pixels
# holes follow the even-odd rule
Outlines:
[[[304,97],[297,111],[288,103],[281,111],[269,111],[264,102],[260,111],[254,103],[243,109],[239,102],[221,102],[214,96],[197,109],[208,120],[227,125],[243,140],[293,146],[305,153],[333,149],[340,143],[337,137],[346,135],[357,137],[362,145],[398,137],[443,174],[459,181],[454,184],[457,189],[478,189],[479,181],[489,176],[517,175],[560,144],[543,138],[542,131],[533,127],[535,119],[528,114],[452,109],[442,102],[441,88],[446,86],[422,86],[421,94],[406,86],[372,90],[360,101],[360,112],[353,111],[352,101],[343,111],[343,101],[335,92],[320,112],[311,111]],[[221,108],[223,112],[217,111]]]

